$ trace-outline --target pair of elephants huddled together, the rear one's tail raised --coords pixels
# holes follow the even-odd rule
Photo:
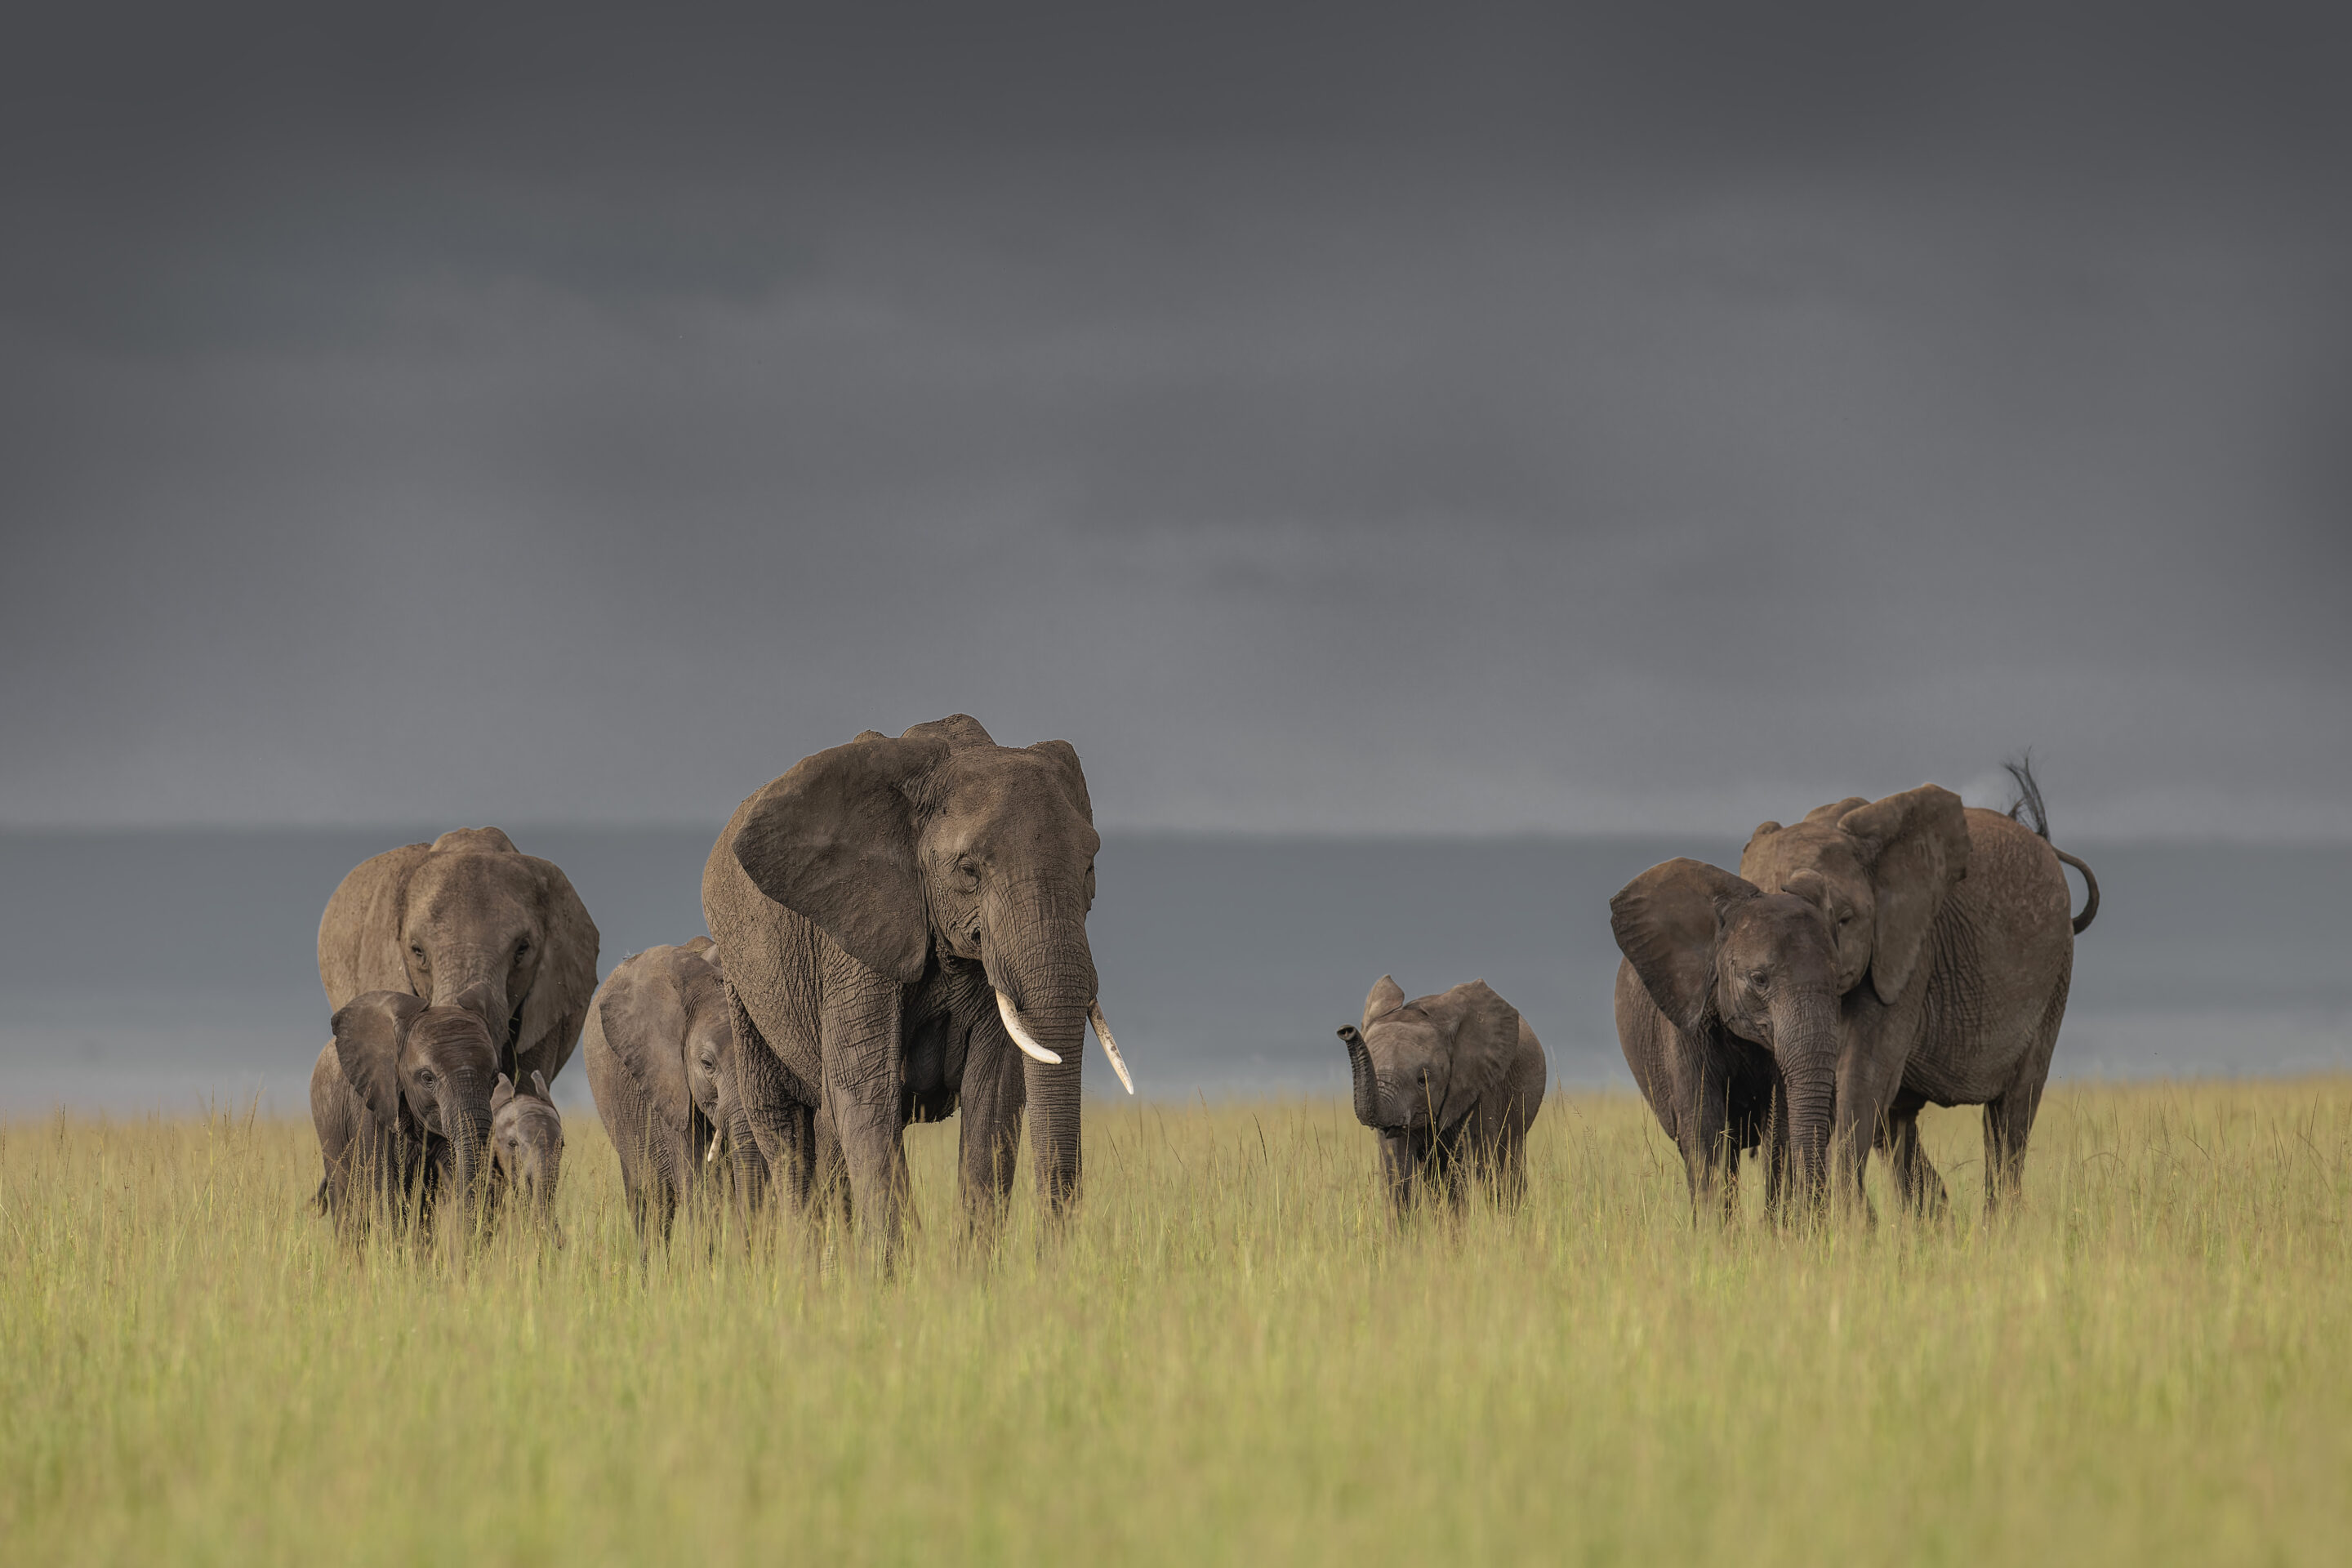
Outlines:
[[[2020,783],[2032,792],[2030,776]],[[1757,1098],[1745,1041],[1778,1067],[1788,1161],[1809,1197],[1828,1187],[1860,1204],[1875,1143],[1903,1201],[1940,1211],[1943,1180],[1919,1154],[1922,1105],[1983,1105],[1985,1204],[2016,1197],[2074,936],[2098,907],[2091,882],[2070,917],[2067,863],[2089,879],[2037,830],[1919,785],[1762,823],[1740,877],[1670,860],[1628,884],[1611,924],[1663,1018],[1642,1016],[1621,973],[1618,1034],[1644,1093],[1665,1088],[1651,1105],[1661,1121],[1672,1114],[1668,1131],[1691,1128],[1677,1133],[1684,1159],[1696,1145],[1712,1173],[1745,1138]],[[1712,1187],[1700,1175],[1693,1194]]]

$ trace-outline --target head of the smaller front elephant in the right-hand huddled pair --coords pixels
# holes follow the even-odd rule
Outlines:
[[[1705,860],[1665,860],[1618,889],[1609,926],[1677,1030],[1722,1027],[1771,1051],[1795,1175],[1818,1197],[1837,1112],[1842,961],[1823,905]]]

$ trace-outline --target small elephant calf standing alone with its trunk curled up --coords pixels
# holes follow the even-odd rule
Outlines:
[[[1404,999],[1381,976],[1364,1027],[1338,1032],[1355,1072],[1355,1119],[1381,1135],[1397,1213],[1423,1178],[1461,1206],[1472,1178],[1517,1206],[1526,1192],[1526,1128],[1543,1110],[1543,1044],[1484,980]]]

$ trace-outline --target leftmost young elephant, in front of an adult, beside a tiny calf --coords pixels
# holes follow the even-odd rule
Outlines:
[[[376,990],[334,1013],[310,1070],[310,1121],[327,1166],[318,1206],[360,1222],[369,1204],[430,1222],[445,1190],[480,1192],[499,1053],[482,990],[428,1006]]]

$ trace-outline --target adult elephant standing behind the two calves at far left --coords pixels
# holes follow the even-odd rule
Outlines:
[[[553,1084],[595,992],[597,931],[572,882],[496,827],[362,860],[318,924],[327,1006],[402,990],[437,1006],[480,987],[499,1070]]]

